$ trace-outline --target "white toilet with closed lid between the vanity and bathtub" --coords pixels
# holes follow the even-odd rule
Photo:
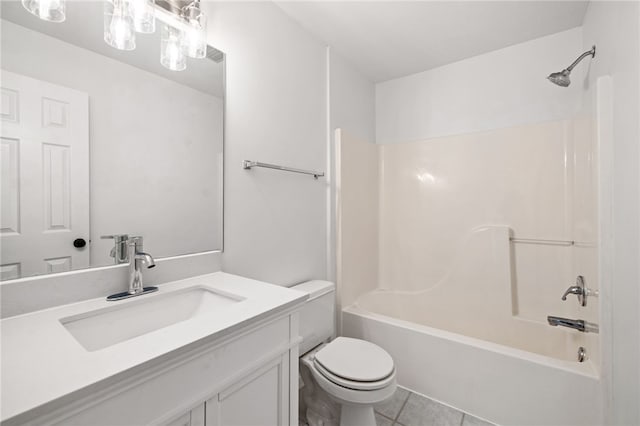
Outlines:
[[[373,405],[396,390],[391,356],[373,343],[335,335],[335,285],[307,281],[292,290],[309,294],[300,312],[301,361],[317,385],[340,404],[341,426],[375,426]],[[330,341],[331,340],[331,341]]]

